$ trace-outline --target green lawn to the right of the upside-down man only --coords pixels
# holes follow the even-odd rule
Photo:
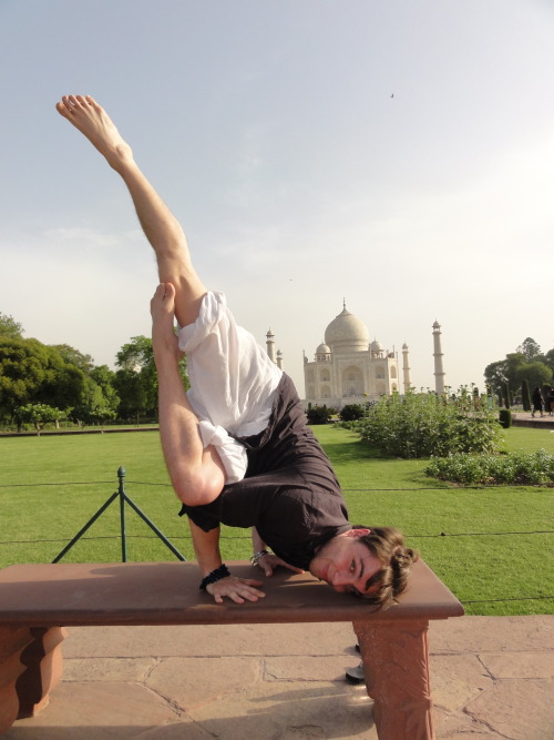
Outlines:
[[[350,520],[402,529],[468,614],[552,612],[552,488],[462,489],[428,478],[425,460],[379,458],[352,433],[315,429],[345,487]],[[512,427],[504,444],[506,452],[554,452],[554,434]]]

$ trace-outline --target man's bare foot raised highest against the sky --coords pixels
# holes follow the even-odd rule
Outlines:
[[[94,98],[63,95],[55,108],[60,115],[89,139],[114,170],[133,161],[131,146],[123,141],[111,118]]]

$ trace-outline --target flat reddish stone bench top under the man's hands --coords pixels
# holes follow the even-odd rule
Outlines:
[[[414,564],[399,604],[375,611],[337,594],[309,572],[279,569],[264,578],[248,561],[227,562],[234,575],[264,580],[266,597],[215,604],[198,589],[196,562],[62,562],[0,570],[0,625],[205,625],[447,619],[460,601],[422,561]]]

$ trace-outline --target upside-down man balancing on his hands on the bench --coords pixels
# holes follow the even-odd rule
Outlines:
[[[265,596],[261,581],[237,578],[222,562],[219,525],[226,524],[253,527],[253,561],[266,576],[277,566],[309,569],[337,591],[388,606],[406,587],[414,553],[396,529],[348,523],[338,480],[291,381],[236,325],[225,297],[205,287],[181,225],[101,105],[89,95],[64,95],[57,109],[121,175],[156,255],[151,313],[160,434],[189,518],[201,588],[217,602]],[[182,352],[188,393],[178,373]]]

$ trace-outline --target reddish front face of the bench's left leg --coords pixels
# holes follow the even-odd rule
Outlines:
[[[21,653],[33,641],[28,627],[0,627],[0,734],[16,721],[19,697],[16,683],[25,670]]]

